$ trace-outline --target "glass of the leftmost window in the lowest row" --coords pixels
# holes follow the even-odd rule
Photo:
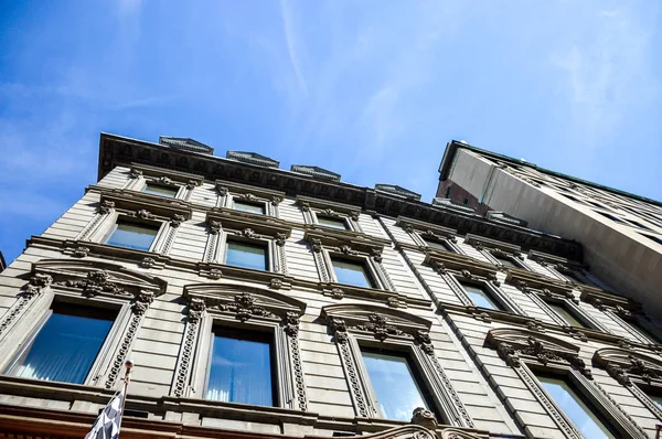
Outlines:
[[[8,375],[83,384],[116,312],[55,303]]]

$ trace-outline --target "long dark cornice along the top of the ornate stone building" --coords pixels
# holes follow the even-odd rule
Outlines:
[[[553,235],[445,210],[428,203],[403,200],[399,196],[370,188],[313,180],[306,175],[279,169],[258,167],[202,153],[175,151],[157,143],[102,133],[99,141],[99,179],[116,165],[130,165],[131,163],[200,174],[210,182],[220,179],[282,191],[290,196],[301,195],[354,205],[360,210],[392,217],[402,215],[457,229],[460,235],[471,233],[517,244],[524,250],[534,249],[568,259],[581,260],[583,250],[578,243]]]

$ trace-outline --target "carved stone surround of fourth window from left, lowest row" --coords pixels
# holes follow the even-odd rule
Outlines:
[[[534,371],[565,376],[621,435],[638,439],[648,438],[645,431],[594,379],[590,368],[586,367],[579,357],[579,347],[574,344],[547,334],[512,328],[490,330],[485,344],[495,349],[499,356],[512,367],[566,438],[585,439],[547,395]]]

